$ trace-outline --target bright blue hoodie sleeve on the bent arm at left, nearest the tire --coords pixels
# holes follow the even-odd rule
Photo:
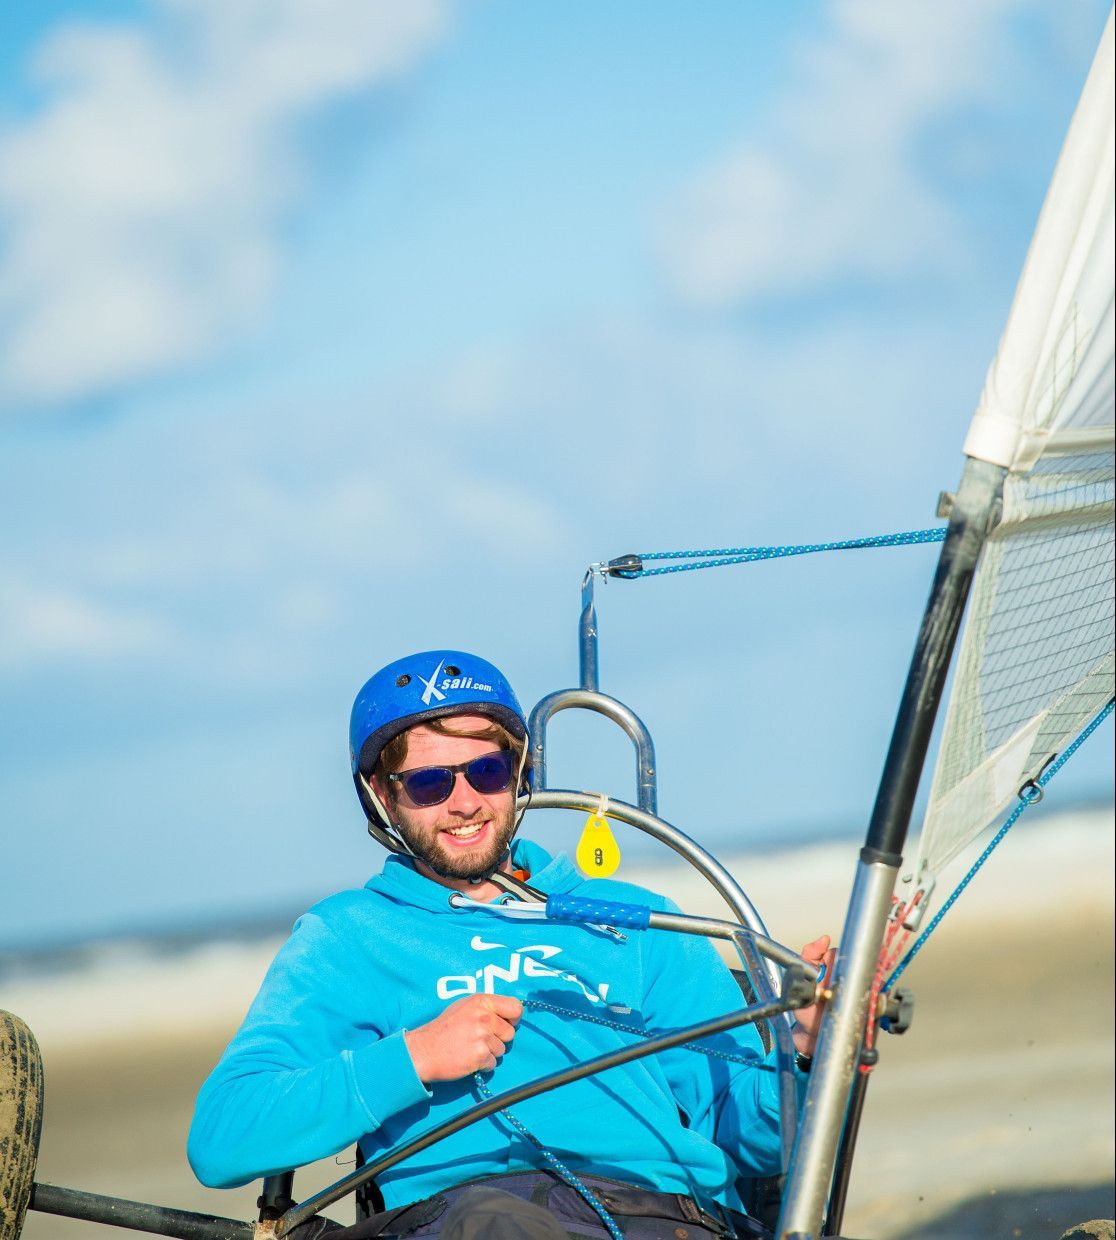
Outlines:
[[[325,1158],[430,1097],[403,1029],[360,1011],[368,991],[351,959],[317,914],[295,924],[198,1095],[187,1157],[203,1184]]]

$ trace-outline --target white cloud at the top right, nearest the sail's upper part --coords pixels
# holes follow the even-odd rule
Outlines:
[[[894,284],[963,268],[966,239],[920,151],[931,126],[994,100],[1017,0],[835,0],[763,131],[666,213],[661,255],[697,305]]]

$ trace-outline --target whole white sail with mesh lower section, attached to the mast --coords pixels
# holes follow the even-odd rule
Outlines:
[[[930,804],[937,874],[1114,693],[1112,14],[965,441],[1007,469]]]

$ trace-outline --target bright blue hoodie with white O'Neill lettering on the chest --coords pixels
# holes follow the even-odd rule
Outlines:
[[[518,841],[515,863],[543,892],[579,892],[675,911],[629,883],[582,879],[560,856]],[[739,1008],[708,940],[604,931],[450,908],[454,894],[401,857],[361,890],[301,916],[244,1023],[202,1086],[190,1131],[195,1174],[213,1188],[360,1142],[371,1161],[477,1101],[472,1076],[424,1085],[403,1039],[466,994],[528,1006],[495,1094],[657,1033]],[[605,1018],[622,1030],[578,1019]],[[779,1171],[777,1076],[750,1027],[717,1045],[749,1064],[678,1048],[518,1104],[513,1114],[574,1171],[740,1209],[738,1177]],[[414,1154],[378,1180],[388,1207],[463,1180],[541,1166],[500,1115]]]

